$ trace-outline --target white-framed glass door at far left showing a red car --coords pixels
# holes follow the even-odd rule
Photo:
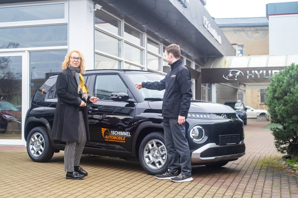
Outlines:
[[[0,53],[0,145],[25,145],[24,118],[29,107],[25,53]],[[28,88],[27,88],[28,89]]]

